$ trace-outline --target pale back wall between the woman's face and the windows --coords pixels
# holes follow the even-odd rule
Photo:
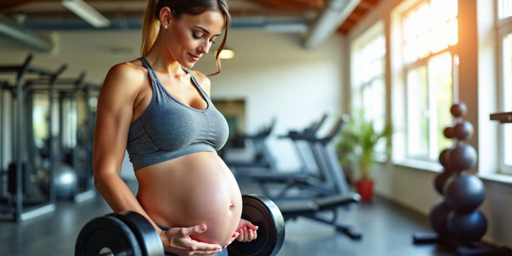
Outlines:
[[[211,97],[245,99],[246,132],[257,132],[276,117],[274,135],[286,134],[290,129],[302,129],[325,112],[342,113],[343,38],[335,36],[316,50],[300,47],[300,39],[297,34],[258,30],[230,32],[227,46],[236,55],[223,60],[221,74],[210,78]],[[197,68],[205,73],[215,71],[210,57]],[[274,136],[268,144],[279,168],[299,167],[288,141]]]

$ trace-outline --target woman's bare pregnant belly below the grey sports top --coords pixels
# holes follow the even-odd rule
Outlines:
[[[216,154],[200,152],[138,170],[137,199],[155,223],[164,227],[205,224],[191,238],[223,246],[242,214],[237,181]]]

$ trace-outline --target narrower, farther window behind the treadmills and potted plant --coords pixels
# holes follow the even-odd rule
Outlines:
[[[351,44],[351,92],[353,108],[374,120],[376,129],[386,121],[386,37],[377,22]]]

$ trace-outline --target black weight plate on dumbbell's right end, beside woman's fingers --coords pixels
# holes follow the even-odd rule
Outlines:
[[[258,238],[251,242],[234,241],[229,256],[274,256],[285,238],[285,224],[278,206],[270,199],[250,194],[242,196],[242,218],[258,226]]]

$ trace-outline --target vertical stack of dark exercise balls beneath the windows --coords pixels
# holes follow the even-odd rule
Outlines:
[[[462,120],[467,107],[459,102],[452,105],[450,112],[454,126],[446,127],[444,136],[453,139],[454,146],[439,154],[444,172],[434,182],[444,197],[434,203],[429,219],[440,238],[471,244],[479,241],[487,229],[487,220],[477,209],[484,200],[485,189],[478,177],[464,172],[477,162],[475,148],[464,143],[473,136],[471,122]]]

